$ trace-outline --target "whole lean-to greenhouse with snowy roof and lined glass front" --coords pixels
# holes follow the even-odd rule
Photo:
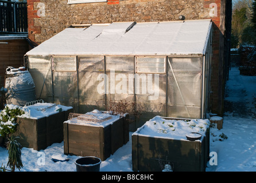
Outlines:
[[[76,113],[133,102],[154,116],[205,118],[210,110],[212,22],[72,25],[28,51],[36,96]]]

